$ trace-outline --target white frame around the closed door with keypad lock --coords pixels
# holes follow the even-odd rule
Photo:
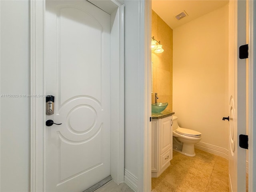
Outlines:
[[[110,14],[110,175],[124,182],[124,4],[105,0],[97,4]],[[44,17],[46,0],[30,1],[30,191],[45,190]],[[43,173],[43,174],[42,174]]]

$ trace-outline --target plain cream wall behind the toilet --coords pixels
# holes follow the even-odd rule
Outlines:
[[[201,142],[228,149],[228,5],[173,30],[173,111]]]

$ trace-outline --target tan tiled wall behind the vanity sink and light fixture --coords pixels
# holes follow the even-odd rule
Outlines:
[[[172,110],[172,29],[152,10],[152,36],[160,41],[164,52],[152,51],[153,93],[158,93],[158,102],[168,102],[166,109]]]

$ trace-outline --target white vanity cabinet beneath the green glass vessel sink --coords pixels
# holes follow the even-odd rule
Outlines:
[[[151,176],[158,177],[172,159],[172,116],[152,119]]]

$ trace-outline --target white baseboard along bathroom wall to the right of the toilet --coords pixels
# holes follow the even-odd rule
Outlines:
[[[207,144],[204,142],[198,142],[197,144],[195,144],[195,148],[221,156],[223,158],[228,159],[228,150],[218,147],[218,146],[214,146],[211,144]]]

